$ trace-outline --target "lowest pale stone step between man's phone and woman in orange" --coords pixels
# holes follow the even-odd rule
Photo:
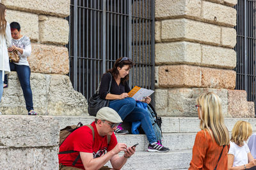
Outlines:
[[[120,156],[124,153],[120,153]],[[127,160],[122,170],[128,169],[188,169],[192,150],[178,150],[166,153],[136,152]],[[106,165],[111,167],[110,162]]]

